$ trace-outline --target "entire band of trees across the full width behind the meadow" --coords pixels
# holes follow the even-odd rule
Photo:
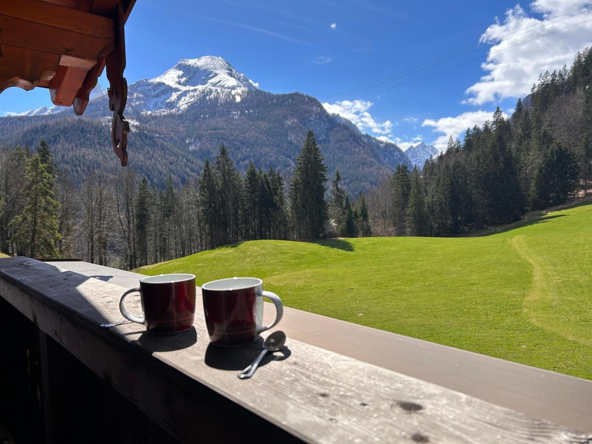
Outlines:
[[[136,268],[254,239],[453,236],[587,194],[592,181],[592,50],[540,76],[510,118],[468,128],[423,169],[400,164],[368,195],[345,191],[308,131],[289,184],[243,174],[226,147],[201,175],[157,188],[131,168],[88,170],[75,186],[50,147],[0,149],[0,250]]]

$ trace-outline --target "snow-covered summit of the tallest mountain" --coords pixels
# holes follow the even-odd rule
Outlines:
[[[240,102],[257,85],[222,57],[181,59],[165,73],[133,83],[128,103],[143,114],[182,112],[202,100]]]

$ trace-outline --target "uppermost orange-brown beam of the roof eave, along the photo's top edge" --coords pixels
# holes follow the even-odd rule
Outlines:
[[[0,14],[88,36],[114,38],[113,19],[39,0],[0,2]]]

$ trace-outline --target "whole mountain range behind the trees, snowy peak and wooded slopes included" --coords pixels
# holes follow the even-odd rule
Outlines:
[[[289,180],[309,129],[329,174],[339,169],[352,196],[377,185],[399,163],[423,166],[422,156],[431,153],[420,144],[410,156],[411,148],[403,152],[394,143],[362,134],[349,120],[329,114],[314,97],[262,91],[214,56],[182,59],[156,78],[133,83],[124,114],[132,132],[128,168],[157,186],[169,173],[178,184],[198,175],[221,144],[240,170],[254,162],[279,170]],[[90,168],[117,168],[110,119],[107,92],[97,86],[82,117],[69,108],[42,107],[0,118],[0,140],[8,146],[36,146],[46,139],[58,164],[80,183]]]

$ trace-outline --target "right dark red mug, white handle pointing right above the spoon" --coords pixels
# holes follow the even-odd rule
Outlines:
[[[201,286],[205,323],[210,340],[215,345],[242,345],[259,339],[259,334],[271,329],[282,318],[282,300],[271,291],[263,290],[258,278],[229,278],[207,282]],[[263,323],[263,297],[275,304],[275,321]]]

